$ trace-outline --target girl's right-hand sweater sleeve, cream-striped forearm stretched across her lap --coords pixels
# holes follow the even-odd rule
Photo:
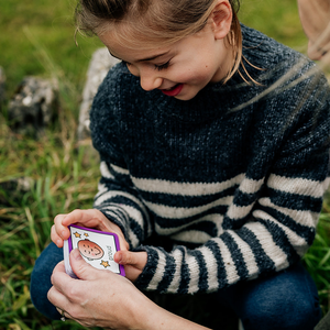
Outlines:
[[[215,292],[285,270],[306,253],[329,184],[329,89],[324,79],[318,84],[299,97],[290,119],[282,119],[282,143],[272,155],[264,154],[272,157],[266,175],[245,174],[220,234],[191,250],[140,246],[148,260],[138,287],[179,294]],[[272,108],[280,109],[290,92],[268,100]],[[261,154],[263,147],[258,146]]]

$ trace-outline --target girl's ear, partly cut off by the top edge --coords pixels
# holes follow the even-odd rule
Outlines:
[[[227,36],[232,22],[232,8],[228,0],[219,0],[210,14],[212,31],[216,40]]]

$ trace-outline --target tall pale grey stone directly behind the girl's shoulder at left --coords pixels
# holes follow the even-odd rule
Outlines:
[[[82,91],[82,101],[79,109],[78,140],[90,136],[89,111],[97,90],[109,69],[120,61],[110,55],[105,48],[97,50],[89,63],[87,80]]]

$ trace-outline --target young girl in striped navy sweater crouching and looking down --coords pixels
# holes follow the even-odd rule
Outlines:
[[[80,0],[79,29],[122,63],[90,113],[102,174],[94,209],[55,218],[57,246],[32,274],[42,312],[59,318],[46,292],[67,226],[78,223],[119,234],[114,260],[140,289],[215,293],[245,330],[319,320],[299,261],[328,187],[327,80],[302,55],[240,25],[238,4]]]

